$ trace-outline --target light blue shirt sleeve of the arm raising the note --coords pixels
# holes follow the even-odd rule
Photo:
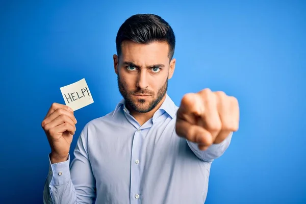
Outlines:
[[[43,190],[44,203],[92,203],[95,199],[95,180],[87,151],[87,131],[83,130],[73,152],[69,167],[65,162],[51,164]]]

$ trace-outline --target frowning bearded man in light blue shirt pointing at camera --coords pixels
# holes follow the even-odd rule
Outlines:
[[[203,89],[176,107],[167,94],[175,37],[157,15],[134,15],[120,27],[113,56],[123,99],[88,122],[69,149],[77,120],[53,104],[42,121],[52,151],[45,203],[204,203],[210,167],[238,130],[233,96]]]

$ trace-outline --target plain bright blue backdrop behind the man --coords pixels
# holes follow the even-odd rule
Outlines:
[[[112,55],[121,23],[161,15],[177,39],[168,94],[223,90],[240,129],[214,161],[206,203],[306,202],[306,4],[303,1],[2,1],[0,203],[41,203],[50,151],[40,126],[60,87],[85,78],[84,125],[121,96]]]

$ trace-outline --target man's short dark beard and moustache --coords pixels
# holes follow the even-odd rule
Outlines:
[[[164,85],[158,90],[157,96],[155,97],[154,92],[146,89],[140,89],[138,88],[135,91],[130,91],[128,92],[126,88],[124,87],[123,83],[120,80],[119,74],[117,74],[117,81],[118,81],[118,88],[120,91],[120,94],[122,97],[125,99],[126,105],[130,106],[134,111],[139,112],[139,113],[147,113],[151,110],[153,110],[163,99],[164,95],[167,92],[168,88],[168,79],[164,83]],[[133,94],[148,94],[151,95],[154,99],[146,105],[148,100],[146,99],[137,99],[136,102],[133,101],[132,95]]]

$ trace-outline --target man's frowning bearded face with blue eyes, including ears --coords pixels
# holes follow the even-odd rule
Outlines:
[[[124,41],[121,56],[114,55],[115,72],[121,95],[136,112],[154,109],[167,92],[175,59],[169,62],[166,42],[140,44]]]

